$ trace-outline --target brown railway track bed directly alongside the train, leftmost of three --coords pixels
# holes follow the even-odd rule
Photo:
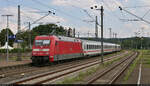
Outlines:
[[[122,55],[126,54],[126,52],[123,52],[121,53]],[[119,55],[121,55],[119,54]],[[114,55],[112,56],[113,57],[116,57],[116,56],[119,56],[119,55]],[[107,57],[109,58],[109,57]],[[46,66],[46,67],[32,67],[32,66],[21,66],[21,67],[17,67],[16,69],[15,68],[10,68],[8,70],[1,70],[0,71],[0,75],[4,75],[4,77],[1,77],[0,78],[0,82],[8,82],[8,81],[12,81],[14,79],[20,79],[20,78],[25,78],[25,77],[29,77],[30,76],[30,73],[34,73],[31,75],[35,75],[35,74],[39,74],[40,72],[47,72],[47,71],[52,71],[52,70],[56,70],[56,69],[61,69],[61,68],[64,68],[65,66],[67,67],[69,64],[72,64],[72,65],[76,65],[76,64],[79,64],[79,63],[83,63],[84,61],[86,63],[90,63],[92,61],[96,61],[97,58],[90,58],[90,59],[85,59],[85,60],[77,60],[77,61],[73,61],[73,62],[67,62],[67,63],[62,63],[62,64],[56,64],[56,65],[52,65],[52,66]],[[88,61],[89,60],[89,61]],[[12,79],[12,80],[11,80]]]

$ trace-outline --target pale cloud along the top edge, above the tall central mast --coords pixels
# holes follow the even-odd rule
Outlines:
[[[127,0],[125,0],[127,2]],[[103,5],[106,10],[108,11],[114,11],[118,9],[118,6],[123,6],[119,1],[117,0],[53,0],[53,5],[56,6],[76,6],[82,9],[89,9],[91,6],[101,6]],[[100,7],[98,7],[100,8]]]

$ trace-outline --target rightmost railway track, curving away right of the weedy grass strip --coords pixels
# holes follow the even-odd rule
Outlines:
[[[98,71],[87,79],[86,84],[113,84],[119,76],[128,68],[133,60],[138,56],[138,52],[121,59],[119,62],[112,64],[112,66]]]

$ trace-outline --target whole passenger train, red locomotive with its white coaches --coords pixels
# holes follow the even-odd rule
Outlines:
[[[103,43],[104,53],[120,51],[118,44]],[[64,36],[36,36],[33,47],[33,63],[47,63],[65,59],[81,58],[101,54],[101,42],[81,40]]]

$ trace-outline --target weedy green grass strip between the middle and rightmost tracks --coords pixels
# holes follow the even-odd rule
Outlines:
[[[121,52],[119,52],[119,53],[121,53]],[[120,56],[119,58],[113,59],[112,61],[106,62],[106,63],[104,63],[104,65],[99,65],[97,67],[90,68],[90,69],[86,70],[85,72],[79,72],[79,74],[75,77],[69,77],[69,78],[66,77],[66,78],[64,78],[63,81],[57,82],[56,84],[72,84],[74,82],[83,81],[85,77],[95,73],[99,69],[102,69],[102,68],[105,68],[105,67],[111,65],[112,63],[120,60],[124,56],[130,55],[130,53],[131,52],[129,52],[129,54],[127,54],[127,55],[123,55],[123,56]]]

